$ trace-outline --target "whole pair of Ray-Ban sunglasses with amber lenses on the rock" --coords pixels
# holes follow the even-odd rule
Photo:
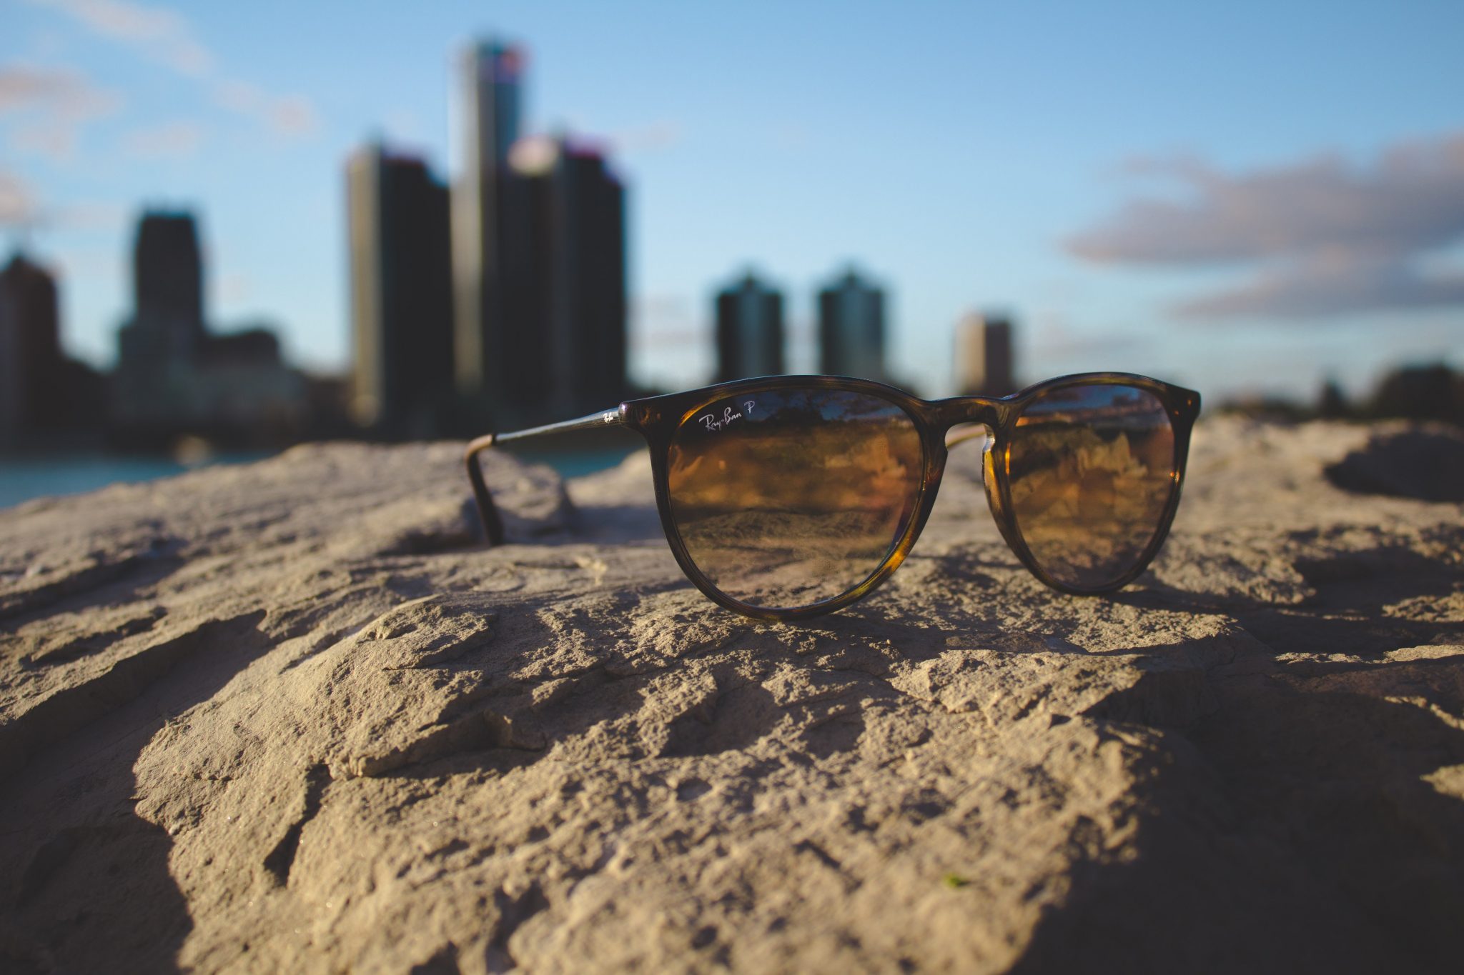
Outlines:
[[[1168,535],[1198,414],[1199,393],[1124,373],[937,401],[862,379],[776,376],[488,434],[466,462],[498,545],[483,450],[630,427],[650,444],[662,528],[687,577],[728,610],[798,620],[889,579],[930,517],[947,447],[987,430],[987,501],[1022,564],[1060,592],[1127,585]]]

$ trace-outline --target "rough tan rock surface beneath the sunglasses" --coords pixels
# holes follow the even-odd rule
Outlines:
[[[957,447],[802,626],[644,455],[492,458],[495,550],[452,444],[0,512],[0,969],[1457,971],[1464,509],[1325,474],[1392,434],[1202,424],[1107,599]]]

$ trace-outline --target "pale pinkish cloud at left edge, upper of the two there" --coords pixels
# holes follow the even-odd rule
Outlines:
[[[6,145],[51,159],[72,158],[88,121],[122,105],[116,92],[97,88],[67,69],[12,64],[0,67],[0,118],[15,117]]]

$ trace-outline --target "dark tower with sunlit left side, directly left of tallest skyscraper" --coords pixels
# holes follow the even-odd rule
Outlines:
[[[351,417],[432,436],[452,392],[448,193],[426,164],[366,146],[347,162]]]

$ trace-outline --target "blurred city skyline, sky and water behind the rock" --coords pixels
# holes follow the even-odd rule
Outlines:
[[[0,0],[0,506],[783,371],[1464,422],[1460,38],[1457,1]]]

